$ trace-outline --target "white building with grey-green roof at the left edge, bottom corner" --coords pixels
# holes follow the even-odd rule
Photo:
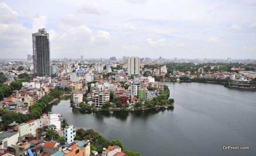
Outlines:
[[[7,149],[7,146],[15,145],[18,142],[19,132],[0,132],[0,148]]]

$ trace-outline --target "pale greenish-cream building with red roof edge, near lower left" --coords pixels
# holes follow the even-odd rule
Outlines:
[[[33,134],[36,135],[36,123],[35,120],[30,120],[27,123],[21,123],[19,125],[19,133],[20,136],[26,135],[26,134]]]

